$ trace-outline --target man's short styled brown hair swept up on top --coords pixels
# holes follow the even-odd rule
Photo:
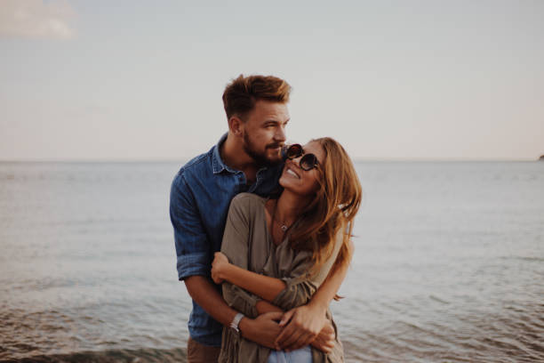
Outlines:
[[[238,76],[225,88],[223,106],[227,118],[245,114],[255,107],[259,100],[286,103],[289,101],[291,85],[274,76]]]

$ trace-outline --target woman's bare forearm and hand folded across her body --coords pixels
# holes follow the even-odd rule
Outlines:
[[[245,270],[229,263],[225,254],[215,253],[212,262],[212,278],[216,284],[226,280],[240,286],[252,294],[271,303],[285,289],[285,283],[279,278],[270,278],[256,272]]]

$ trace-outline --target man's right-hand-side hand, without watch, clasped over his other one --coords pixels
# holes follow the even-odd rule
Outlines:
[[[285,312],[279,323],[284,330],[276,338],[276,349],[294,351],[312,343],[326,321],[325,311],[310,304]]]

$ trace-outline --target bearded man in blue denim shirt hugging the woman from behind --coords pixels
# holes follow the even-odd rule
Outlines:
[[[334,331],[325,311],[346,270],[327,278],[308,305],[257,319],[230,308],[210,277],[230,200],[240,192],[268,196],[277,189],[290,92],[291,86],[277,77],[237,77],[223,93],[228,133],[210,151],[184,165],[172,181],[170,215],[178,277],[193,299],[189,362],[217,361],[222,326],[239,329],[244,338],[270,348],[293,350],[314,342],[327,351],[332,344]]]

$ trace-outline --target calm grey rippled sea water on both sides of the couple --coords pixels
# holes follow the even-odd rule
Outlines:
[[[180,163],[0,163],[0,360],[184,361]],[[349,362],[544,361],[544,163],[357,164]]]

